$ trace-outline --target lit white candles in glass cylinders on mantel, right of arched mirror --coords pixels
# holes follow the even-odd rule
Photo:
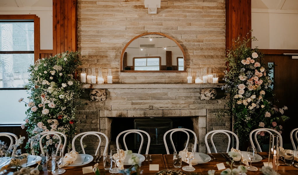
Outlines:
[[[187,83],[193,83],[193,70],[187,69]],[[196,69],[195,83],[218,83],[218,75],[212,73],[212,68]]]

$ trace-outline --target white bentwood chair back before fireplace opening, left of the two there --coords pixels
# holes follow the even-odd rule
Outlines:
[[[141,136],[141,144],[140,144],[140,148],[139,148],[139,154],[141,153],[141,150],[142,150],[142,146],[143,146],[143,143],[144,143],[144,137],[143,137],[143,135],[142,135],[142,133],[144,133],[144,134],[146,134],[147,135],[147,137],[148,137],[148,144],[147,144],[147,148],[146,148],[146,154],[148,154],[148,151],[149,151],[149,146],[150,146],[150,135],[148,134],[148,132],[146,132],[146,131],[143,131],[143,130],[139,130],[139,129],[129,129],[129,130],[126,130],[126,131],[122,131],[122,132],[120,132],[118,135],[117,135],[117,137],[116,137],[116,145],[117,145],[117,149],[120,149],[120,147],[119,147],[119,137],[122,135],[122,134],[124,134],[123,135],[123,144],[124,144],[124,147],[125,147],[125,149],[126,150],[128,150],[127,149],[127,146],[126,146],[126,143],[125,143],[125,137],[128,135],[128,134],[130,134],[130,133],[136,133],[136,134],[139,134],[140,136]]]

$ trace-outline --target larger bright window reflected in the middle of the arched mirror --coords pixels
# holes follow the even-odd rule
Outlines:
[[[161,70],[161,57],[134,57],[133,70]]]

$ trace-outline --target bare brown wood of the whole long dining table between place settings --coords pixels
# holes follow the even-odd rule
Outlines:
[[[258,153],[263,159],[260,162],[253,162],[252,165],[256,166],[257,168],[262,168],[263,162],[268,162],[268,153],[266,152],[261,152]],[[173,154],[151,154],[151,159],[152,161],[144,161],[142,162],[141,165],[141,170],[143,172],[143,175],[154,175],[158,171],[149,171],[149,165],[150,164],[158,164],[159,165],[159,171],[165,170],[165,169],[173,169],[173,170],[182,170],[182,168],[174,168],[173,166]],[[216,164],[218,163],[224,163],[226,168],[230,168],[229,165],[226,165],[227,160],[221,155],[221,154],[212,154],[213,157],[215,158],[214,160],[211,160],[206,163],[202,164],[197,164],[194,165],[193,167],[195,168],[195,171],[193,172],[185,172],[187,175],[207,175],[208,170],[215,170],[215,174],[220,174],[221,171],[223,170],[218,170]],[[149,158],[149,157],[148,157]],[[82,166],[66,166],[63,167],[63,169],[66,170],[66,172],[63,175],[78,175],[78,174],[83,174],[83,167],[88,167],[88,166],[94,166],[95,162],[92,161],[86,165]],[[111,175],[108,170],[105,170],[103,168],[103,157],[100,158],[99,162],[99,169],[100,169],[100,174],[107,174]],[[188,164],[185,162],[182,162],[182,167],[187,166]],[[243,164],[244,165],[244,164]],[[36,165],[35,165],[36,166]],[[114,166],[114,163],[113,163]],[[129,168],[130,165],[125,165],[124,168]],[[235,168],[235,167],[233,167]],[[294,166],[288,166],[285,165],[284,162],[280,160],[280,166],[278,167],[278,173],[280,175],[289,175],[289,174],[298,174],[298,168]],[[9,169],[8,172],[6,173],[7,175],[12,175],[13,174],[13,169]],[[44,164],[44,169],[43,171],[40,172],[41,175],[50,175],[52,174],[51,172],[48,172],[46,170],[46,164]],[[86,175],[91,175],[94,173],[87,173]],[[262,175],[262,172],[260,171],[248,171],[246,173],[247,175]],[[121,175],[121,174],[119,174]]]

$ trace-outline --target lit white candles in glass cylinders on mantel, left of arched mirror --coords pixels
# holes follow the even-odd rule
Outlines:
[[[88,83],[88,84],[103,84],[104,77],[103,71],[101,68],[97,68],[97,75],[96,75],[96,68],[82,68],[81,71],[81,82]],[[113,83],[113,76],[111,69],[108,69],[108,76],[107,76],[108,83]]]

